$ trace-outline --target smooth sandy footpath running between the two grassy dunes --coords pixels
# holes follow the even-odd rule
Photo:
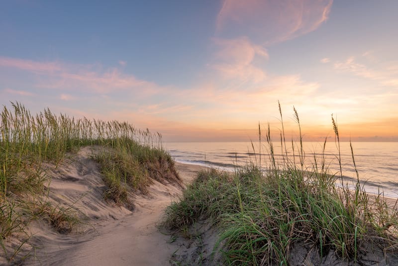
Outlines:
[[[136,201],[132,214],[97,228],[98,236],[56,256],[58,265],[168,265],[175,247],[159,232],[166,193]]]

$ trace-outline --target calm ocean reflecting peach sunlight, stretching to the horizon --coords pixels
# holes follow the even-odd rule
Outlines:
[[[254,146],[254,149],[253,149]],[[385,196],[398,197],[398,142],[353,142],[355,164],[361,184],[367,192],[384,192]],[[216,167],[234,171],[237,166],[250,162],[260,163],[265,169],[270,166],[270,150],[266,143],[253,142],[166,142],[164,147],[178,162]],[[322,158],[323,143],[303,142],[304,166],[309,170]],[[260,156],[261,153],[261,156]],[[277,164],[283,164],[281,144],[274,143]],[[298,146],[288,143],[288,157],[296,154],[299,163]],[[349,142],[340,142],[341,164],[346,183],[353,185],[356,173]],[[338,149],[334,141],[326,143],[325,162],[332,174],[340,175]],[[261,158],[260,158],[261,157]]]

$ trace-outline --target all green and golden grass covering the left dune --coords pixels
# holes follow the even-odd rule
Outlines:
[[[45,201],[51,180],[46,165],[58,165],[68,153],[95,145],[107,187],[105,199],[126,203],[127,192],[145,192],[152,179],[179,183],[174,161],[162,147],[162,136],[126,122],[75,119],[49,109],[31,115],[20,103],[3,107],[0,119],[0,241],[23,233],[29,219],[44,219],[67,233],[78,223],[72,209]],[[151,179],[152,178],[152,179]],[[40,199],[40,204],[29,200]],[[37,196],[39,195],[39,196]]]

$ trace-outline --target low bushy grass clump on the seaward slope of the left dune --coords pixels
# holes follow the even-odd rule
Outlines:
[[[174,161],[161,148],[141,145],[131,139],[112,141],[93,155],[101,165],[105,199],[128,203],[128,191],[147,193],[152,180],[180,184]]]

